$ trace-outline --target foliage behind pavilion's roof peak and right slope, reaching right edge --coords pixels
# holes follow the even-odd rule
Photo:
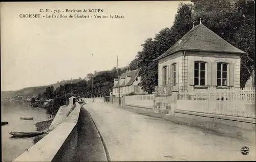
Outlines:
[[[241,58],[240,85],[244,87],[252,76],[255,85],[255,28],[254,1],[191,1],[194,3],[193,19],[214,31],[224,40],[248,55]]]

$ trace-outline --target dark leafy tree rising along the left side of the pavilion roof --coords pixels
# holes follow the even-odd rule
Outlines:
[[[154,40],[148,38],[138,52],[138,68],[141,82],[139,86],[145,92],[152,93],[158,85],[158,62],[153,61],[192,28],[192,6],[181,3],[172,28],[162,29]]]

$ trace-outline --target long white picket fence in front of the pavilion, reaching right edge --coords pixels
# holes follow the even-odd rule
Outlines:
[[[177,109],[184,111],[255,118],[255,87],[179,93]]]

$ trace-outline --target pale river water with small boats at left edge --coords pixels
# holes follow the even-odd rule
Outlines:
[[[9,132],[35,131],[35,123],[50,117],[45,109],[21,102],[2,101],[1,112],[2,121],[9,121],[9,124],[2,126],[2,161],[12,161],[34,143],[33,138],[11,138]],[[34,120],[20,120],[20,117],[34,117]]]

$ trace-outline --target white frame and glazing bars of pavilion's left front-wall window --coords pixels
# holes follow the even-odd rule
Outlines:
[[[198,69],[196,69],[196,63],[198,63]],[[201,64],[204,64],[204,69],[201,69]],[[198,71],[198,77],[196,77],[196,71]],[[204,71],[204,77],[201,77],[201,71]],[[207,74],[207,63],[204,61],[194,62],[194,86],[206,86],[206,74]],[[196,84],[196,79],[198,79],[198,84]],[[204,79],[204,85],[201,85],[201,79]]]

